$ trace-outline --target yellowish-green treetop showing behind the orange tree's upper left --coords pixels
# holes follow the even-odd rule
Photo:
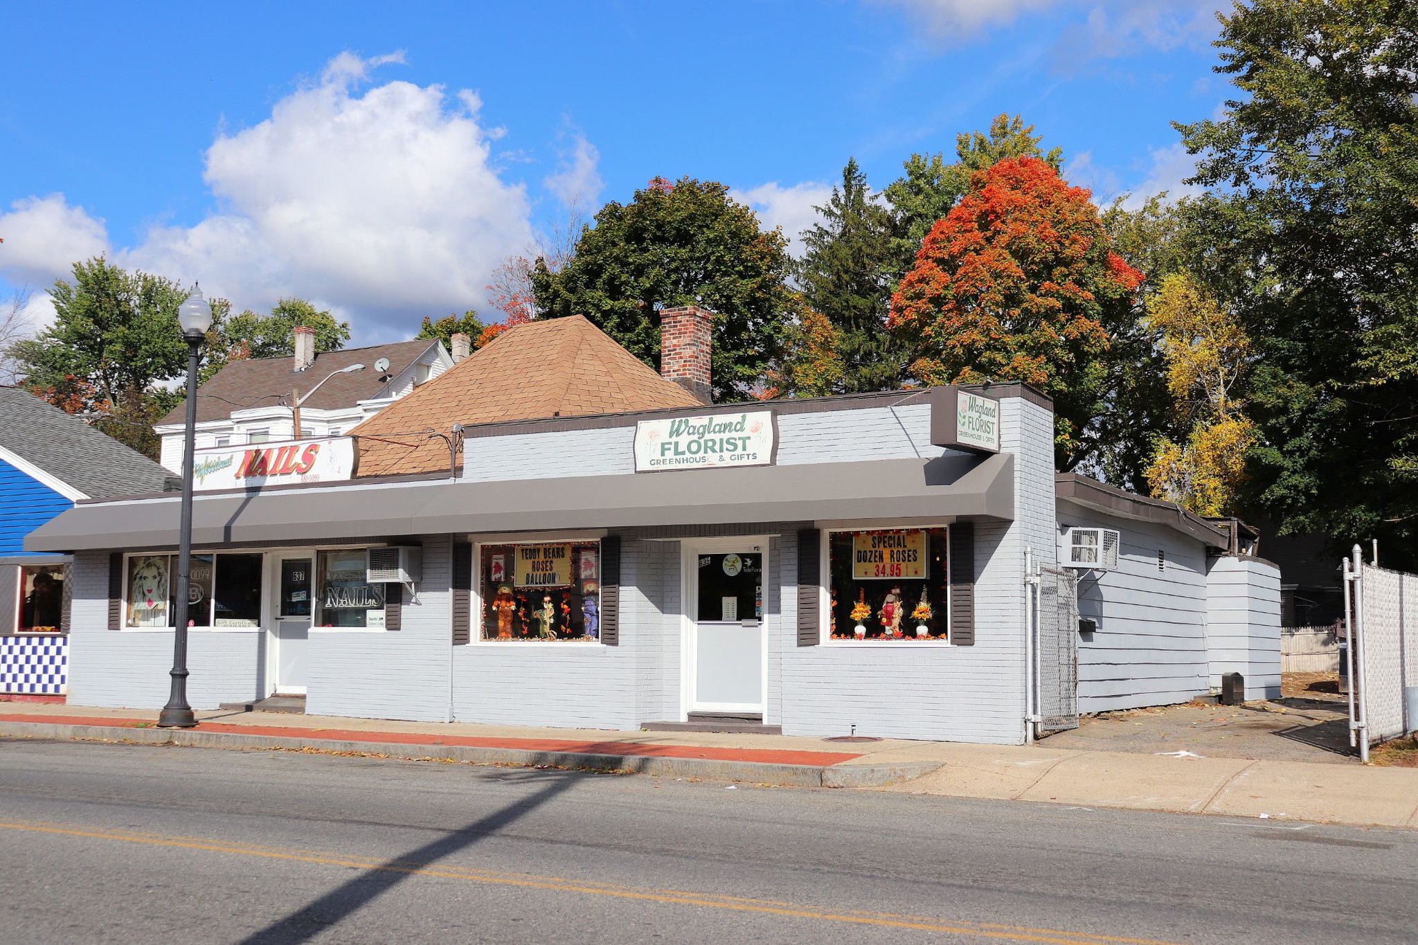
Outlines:
[[[970,177],[977,170],[1007,157],[1022,156],[1038,157],[1059,170],[1064,163],[1062,149],[1045,152],[1039,146],[1042,140],[1042,136],[1034,133],[1032,125],[1024,123],[1022,116],[998,115],[990,122],[988,133],[977,130],[956,135],[953,163],[946,162],[944,153],[912,154],[905,163],[906,173],[882,191],[895,217],[896,261],[891,271],[892,281],[910,271],[922,239],[966,196]]]

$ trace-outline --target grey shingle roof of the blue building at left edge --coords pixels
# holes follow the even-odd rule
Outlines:
[[[170,472],[18,387],[0,387],[0,446],[89,499],[162,492]]]

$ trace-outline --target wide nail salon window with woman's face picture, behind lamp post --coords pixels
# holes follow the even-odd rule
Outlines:
[[[262,555],[194,554],[189,561],[187,626],[261,626]],[[130,555],[125,626],[172,626],[176,592],[176,554]]]

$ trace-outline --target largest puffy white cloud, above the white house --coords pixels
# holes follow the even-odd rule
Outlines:
[[[301,295],[350,313],[357,340],[482,305],[492,269],[530,239],[526,193],[493,167],[475,94],[401,81],[357,94],[400,61],[342,52],[271,118],[218,136],[203,179],[221,210],[153,227],[122,262],[200,279],[237,307]]]

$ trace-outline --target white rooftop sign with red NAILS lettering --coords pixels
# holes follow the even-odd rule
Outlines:
[[[196,492],[251,489],[302,482],[342,482],[354,470],[349,436],[301,439],[251,446],[199,449],[191,469]]]

